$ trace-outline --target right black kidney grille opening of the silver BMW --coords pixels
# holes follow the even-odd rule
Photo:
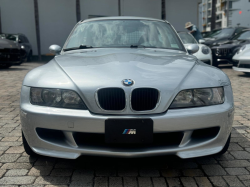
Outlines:
[[[131,107],[134,111],[153,110],[159,100],[159,91],[155,88],[136,88],[132,92]]]

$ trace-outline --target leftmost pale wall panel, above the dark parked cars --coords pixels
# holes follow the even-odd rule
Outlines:
[[[3,33],[25,34],[37,54],[33,0],[0,0]]]

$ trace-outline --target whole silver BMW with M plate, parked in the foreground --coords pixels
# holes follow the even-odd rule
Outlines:
[[[184,47],[172,25],[139,17],[80,21],[22,85],[29,155],[180,158],[223,154],[234,116],[230,80]]]

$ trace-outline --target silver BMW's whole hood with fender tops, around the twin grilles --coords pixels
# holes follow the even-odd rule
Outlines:
[[[156,88],[162,99],[153,113],[161,113],[167,110],[176,94],[186,87],[230,84],[220,70],[211,67],[208,71],[206,68],[208,66],[198,62],[193,55],[175,50],[81,50],[59,55],[47,65],[32,70],[23,84],[76,90],[94,113],[105,113],[96,105],[95,93],[100,88],[120,87],[127,97],[134,88]],[[135,84],[126,87],[122,84],[123,79],[132,79]],[[127,109],[124,114],[133,113]]]

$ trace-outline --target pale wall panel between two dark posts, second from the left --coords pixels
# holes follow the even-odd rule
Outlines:
[[[76,4],[72,0],[38,1],[41,54],[49,53],[49,46],[63,46],[76,24]]]

